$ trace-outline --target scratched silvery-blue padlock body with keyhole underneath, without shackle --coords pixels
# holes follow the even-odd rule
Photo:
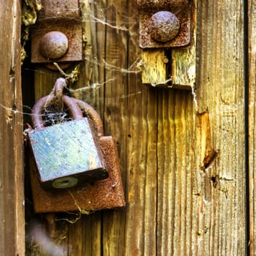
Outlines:
[[[29,132],[41,187],[66,189],[108,178],[97,136],[88,118]]]

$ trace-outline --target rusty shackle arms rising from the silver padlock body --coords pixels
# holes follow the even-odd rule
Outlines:
[[[55,95],[49,94],[45,97],[42,97],[35,103],[31,111],[31,118],[34,129],[42,129],[44,127],[44,123],[42,121],[42,112],[48,105],[51,104],[51,102],[53,102],[54,97]],[[83,118],[83,113],[73,98],[63,95],[62,100],[64,102],[65,108],[69,110],[69,115],[71,118]]]

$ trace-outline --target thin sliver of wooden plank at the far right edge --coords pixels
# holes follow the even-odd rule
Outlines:
[[[256,133],[255,133],[255,83],[256,83],[256,3],[248,1],[248,57],[249,57],[249,98],[248,98],[248,129],[249,129],[249,255],[256,255]]]

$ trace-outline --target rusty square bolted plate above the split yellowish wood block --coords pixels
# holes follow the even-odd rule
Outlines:
[[[140,12],[140,48],[170,48],[189,44],[191,13],[188,0],[138,0],[137,4]]]

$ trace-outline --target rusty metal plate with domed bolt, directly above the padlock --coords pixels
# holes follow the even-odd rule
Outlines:
[[[31,29],[31,62],[81,61],[83,37],[78,1],[42,0],[42,7]]]

